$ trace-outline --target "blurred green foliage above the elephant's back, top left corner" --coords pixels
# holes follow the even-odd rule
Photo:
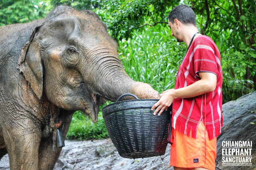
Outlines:
[[[51,10],[49,0],[0,1],[0,27],[44,18]]]

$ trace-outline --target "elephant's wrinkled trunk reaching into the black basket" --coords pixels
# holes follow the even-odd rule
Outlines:
[[[92,95],[101,96],[104,99],[116,102],[123,94],[131,93],[140,99],[158,99],[159,93],[150,85],[132,80],[125,72],[117,53],[113,50],[94,52],[95,60],[84,61],[88,69],[81,70],[85,84]],[[83,64],[83,65],[84,65]],[[131,100],[133,97],[125,96],[122,100]],[[93,122],[97,118],[96,112],[89,112]]]

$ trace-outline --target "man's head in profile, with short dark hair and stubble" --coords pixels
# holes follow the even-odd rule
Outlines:
[[[181,33],[181,26],[196,27],[196,17],[194,11],[187,5],[178,5],[172,9],[168,15],[168,26],[172,30],[172,36],[178,42],[183,42],[183,35]]]

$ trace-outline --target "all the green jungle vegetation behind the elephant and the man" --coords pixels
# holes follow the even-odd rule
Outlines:
[[[223,70],[223,103],[256,90],[256,0],[0,0],[0,27],[44,18],[66,4],[92,10],[119,44],[126,73],[150,84],[159,93],[174,88],[187,46],[171,36],[167,16],[179,4],[196,14],[199,32],[216,43]],[[77,111],[67,138],[108,137],[101,109],[98,122]]]

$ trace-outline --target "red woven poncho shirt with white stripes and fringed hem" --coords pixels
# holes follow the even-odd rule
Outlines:
[[[217,137],[223,126],[222,118],[222,69],[220,52],[216,44],[207,36],[198,36],[190,45],[177,73],[175,89],[189,86],[200,80],[198,72],[216,74],[217,85],[214,92],[173,101],[172,127],[185,135],[196,138],[196,128],[202,120],[209,139]]]

